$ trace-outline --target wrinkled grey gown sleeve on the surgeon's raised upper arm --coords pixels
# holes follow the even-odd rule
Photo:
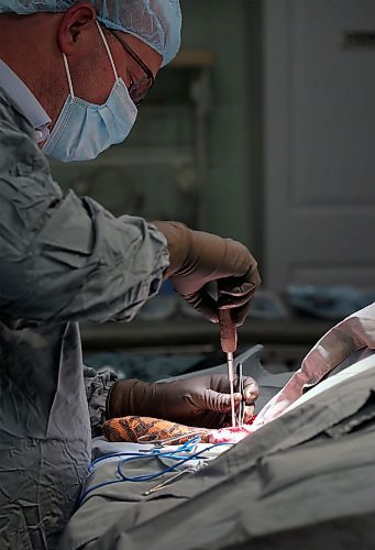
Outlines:
[[[164,235],[53,180],[34,130],[0,94],[0,311],[36,322],[129,321],[158,290]]]

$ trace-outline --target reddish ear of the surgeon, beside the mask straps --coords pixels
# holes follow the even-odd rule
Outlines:
[[[91,33],[95,33],[96,36],[96,9],[89,2],[78,3],[69,8],[58,28],[57,41],[60,51],[70,55],[84,37],[89,37]]]

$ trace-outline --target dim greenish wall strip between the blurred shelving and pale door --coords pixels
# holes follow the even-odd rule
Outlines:
[[[214,52],[206,229],[262,256],[261,0],[183,0],[183,47]]]

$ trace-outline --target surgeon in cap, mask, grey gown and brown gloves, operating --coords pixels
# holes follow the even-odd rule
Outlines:
[[[240,326],[260,284],[251,253],[64,195],[46,158],[89,161],[125,140],[179,40],[177,0],[0,0],[1,549],[56,548],[87,473],[90,416],[96,430],[123,414],[220,426],[229,413],[224,376],[162,394],[108,372],[84,380],[78,321],[130,321],[169,278],[203,317],[230,308]],[[256,396],[246,378],[247,414]]]

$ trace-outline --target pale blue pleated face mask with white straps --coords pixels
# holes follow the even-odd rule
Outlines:
[[[120,143],[129,135],[136,119],[137,109],[131,100],[123,80],[118,77],[111,52],[98,24],[114,73],[114,85],[106,101],[98,106],[74,95],[66,55],[63,53],[69,96],[48,135],[42,151],[63,162],[89,161],[113,143]]]

